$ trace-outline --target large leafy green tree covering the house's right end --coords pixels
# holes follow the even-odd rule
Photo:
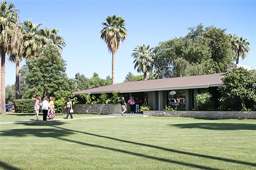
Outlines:
[[[219,87],[222,94],[221,102],[227,109],[236,108],[239,99],[242,109],[246,109],[245,102],[256,102],[256,71],[247,71],[244,68],[232,68],[222,77],[223,86]]]

